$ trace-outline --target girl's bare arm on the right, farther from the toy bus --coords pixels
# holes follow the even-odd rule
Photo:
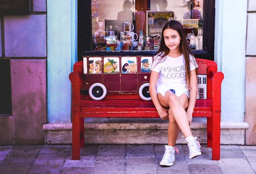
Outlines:
[[[190,95],[189,95],[189,102],[187,106],[187,116],[188,116],[188,123],[191,124],[192,121],[192,114],[197,102],[197,73],[196,69],[190,71]]]

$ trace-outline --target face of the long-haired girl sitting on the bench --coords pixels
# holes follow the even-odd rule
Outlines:
[[[163,31],[164,44],[170,51],[180,51],[180,35],[176,30],[165,29]]]

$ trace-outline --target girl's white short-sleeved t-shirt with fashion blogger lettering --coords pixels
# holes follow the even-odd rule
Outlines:
[[[157,80],[157,93],[164,93],[169,89],[174,89],[175,94],[180,96],[182,93],[188,91],[186,85],[186,69],[185,59],[183,54],[177,58],[166,56],[163,62],[159,62],[161,57],[155,56],[154,62],[152,63],[153,71],[159,72]],[[198,67],[196,60],[193,56],[189,55],[190,59],[190,71]]]

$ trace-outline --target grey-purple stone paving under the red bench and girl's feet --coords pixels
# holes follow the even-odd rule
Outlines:
[[[256,173],[256,146],[222,145],[221,160],[211,160],[211,148],[188,158],[187,145],[172,167],[159,162],[164,145],[86,145],[81,160],[71,160],[70,145],[0,146],[0,173]]]

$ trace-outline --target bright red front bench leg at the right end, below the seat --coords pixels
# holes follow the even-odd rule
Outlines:
[[[212,160],[220,160],[220,138],[221,138],[221,124],[220,113],[214,113],[212,120]]]

